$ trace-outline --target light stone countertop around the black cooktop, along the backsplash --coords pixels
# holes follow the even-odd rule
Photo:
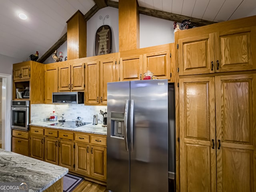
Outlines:
[[[50,124],[54,124],[57,122],[58,121],[32,121],[32,123],[30,123],[29,126],[40,126],[40,127],[46,127],[46,128],[54,128],[54,129],[62,129],[62,130],[77,131],[77,132],[84,132],[84,133],[107,135],[107,128],[102,127],[102,124],[93,125],[92,123],[90,123],[88,125],[80,126],[77,128],[50,126]]]

